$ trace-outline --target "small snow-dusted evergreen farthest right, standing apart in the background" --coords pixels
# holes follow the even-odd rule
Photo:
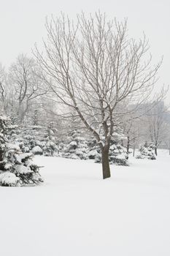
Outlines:
[[[139,148],[139,154],[136,155],[136,159],[151,159],[151,160],[155,160],[155,146],[153,143],[147,143],[145,142],[143,146],[141,146]]]

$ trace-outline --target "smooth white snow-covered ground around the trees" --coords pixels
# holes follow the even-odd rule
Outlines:
[[[37,157],[39,187],[0,187],[1,256],[169,256],[170,156],[112,165]]]

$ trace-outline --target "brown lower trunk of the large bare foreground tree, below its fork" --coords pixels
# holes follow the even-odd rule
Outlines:
[[[104,146],[102,148],[101,154],[102,154],[103,178],[110,178],[109,147],[108,146]]]

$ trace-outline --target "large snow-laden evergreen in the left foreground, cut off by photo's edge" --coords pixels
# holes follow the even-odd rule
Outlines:
[[[22,153],[17,144],[9,142],[13,127],[9,118],[0,116],[0,185],[6,187],[41,183],[39,167],[31,153]]]

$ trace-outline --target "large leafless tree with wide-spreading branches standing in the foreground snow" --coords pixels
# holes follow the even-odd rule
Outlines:
[[[125,105],[149,99],[161,63],[150,67],[147,39],[129,38],[127,20],[82,13],[75,22],[61,15],[45,26],[45,53],[34,50],[44,80],[56,102],[75,111],[98,141],[103,178],[109,178],[109,145],[117,117],[128,114]]]

